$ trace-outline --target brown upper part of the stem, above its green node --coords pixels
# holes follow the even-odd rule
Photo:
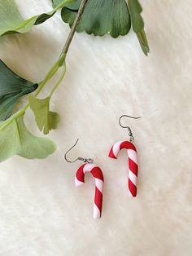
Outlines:
[[[74,36],[74,33],[76,32],[76,27],[77,27],[77,25],[79,24],[79,22],[81,20],[81,15],[83,14],[83,11],[85,9],[85,4],[86,4],[87,1],[88,0],[82,0],[81,1],[81,5],[79,7],[79,11],[78,11],[78,13],[76,15],[76,19],[74,20],[74,22],[72,24],[72,29],[71,29],[71,32],[68,35],[68,39],[67,39],[64,47],[63,47],[62,54],[67,55],[67,53],[68,53],[68,48],[69,48],[69,46],[70,46],[70,44],[72,42],[72,38]]]

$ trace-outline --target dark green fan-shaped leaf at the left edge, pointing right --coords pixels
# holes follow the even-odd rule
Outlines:
[[[0,121],[9,118],[17,100],[36,90],[37,86],[13,73],[0,60]]]

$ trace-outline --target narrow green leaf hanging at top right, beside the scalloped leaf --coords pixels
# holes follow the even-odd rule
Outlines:
[[[145,55],[150,52],[150,47],[147,42],[146,33],[144,31],[144,22],[142,20],[142,7],[137,0],[128,0],[129,11],[131,15],[131,22],[133,31],[137,33],[138,41],[142,47]]]

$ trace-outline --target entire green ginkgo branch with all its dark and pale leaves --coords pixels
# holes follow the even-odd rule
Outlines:
[[[95,36],[110,34],[112,38],[129,33],[131,25],[145,55],[150,51],[138,0],[52,0],[53,10],[24,20],[14,0],[0,0],[0,36],[27,33],[33,25],[41,24],[61,9],[61,17],[71,31],[59,55],[43,81],[38,84],[18,76],[0,60],[0,161],[14,155],[28,159],[45,158],[55,152],[50,139],[32,135],[24,124],[24,114],[31,108],[39,130],[47,135],[59,124],[59,114],[50,111],[50,99],[66,73],[66,56],[75,32],[85,31]],[[10,11],[11,10],[11,11]],[[45,99],[37,96],[56,73],[58,81]],[[29,95],[34,91],[33,95]],[[28,104],[13,113],[20,97],[28,95]]]

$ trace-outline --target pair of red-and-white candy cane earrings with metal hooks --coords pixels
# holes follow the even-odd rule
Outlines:
[[[110,152],[108,157],[116,159],[118,156],[118,153],[121,149],[125,148],[128,152],[128,158],[129,158],[129,177],[128,177],[128,188],[129,188],[129,196],[137,196],[137,150],[135,146],[133,145],[134,137],[132,130],[129,126],[122,126],[121,124],[121,118],[122,117],[130,117],[133,119],[138,119],[140,117],[131,117],[127,115],[123,115],[119,119],[119,124],[122,128],[126,128],[129,130],[129,141],[118,141],[116,142]],[[76,140],[76,143],[79,139]],[[72,146],[74,148],[76,146],[76,143]],[[70,148],[68,152],[72,150]],[[65,160],[69,163],[74,163],[75,161],[84,161],[84,165],[80,166],[80,168],[76,171],[76,178],[75,178],[75,184],[76,187],[81,186],[83,183],[85,183],[85,173],[90,172],[94,176],[94,182],[95,182],[95,193],[94,193],[94,218],[101,218],[102,215],[102,205],[103,205],[103,184],[104,184],[104,178],[103,178],[103,172],[102,170],[94,165],[94,160],[91,158],[83,158],[83,157],[77,157],[74,161],[69,161],[67,158],[68,152],[65,153]]]

